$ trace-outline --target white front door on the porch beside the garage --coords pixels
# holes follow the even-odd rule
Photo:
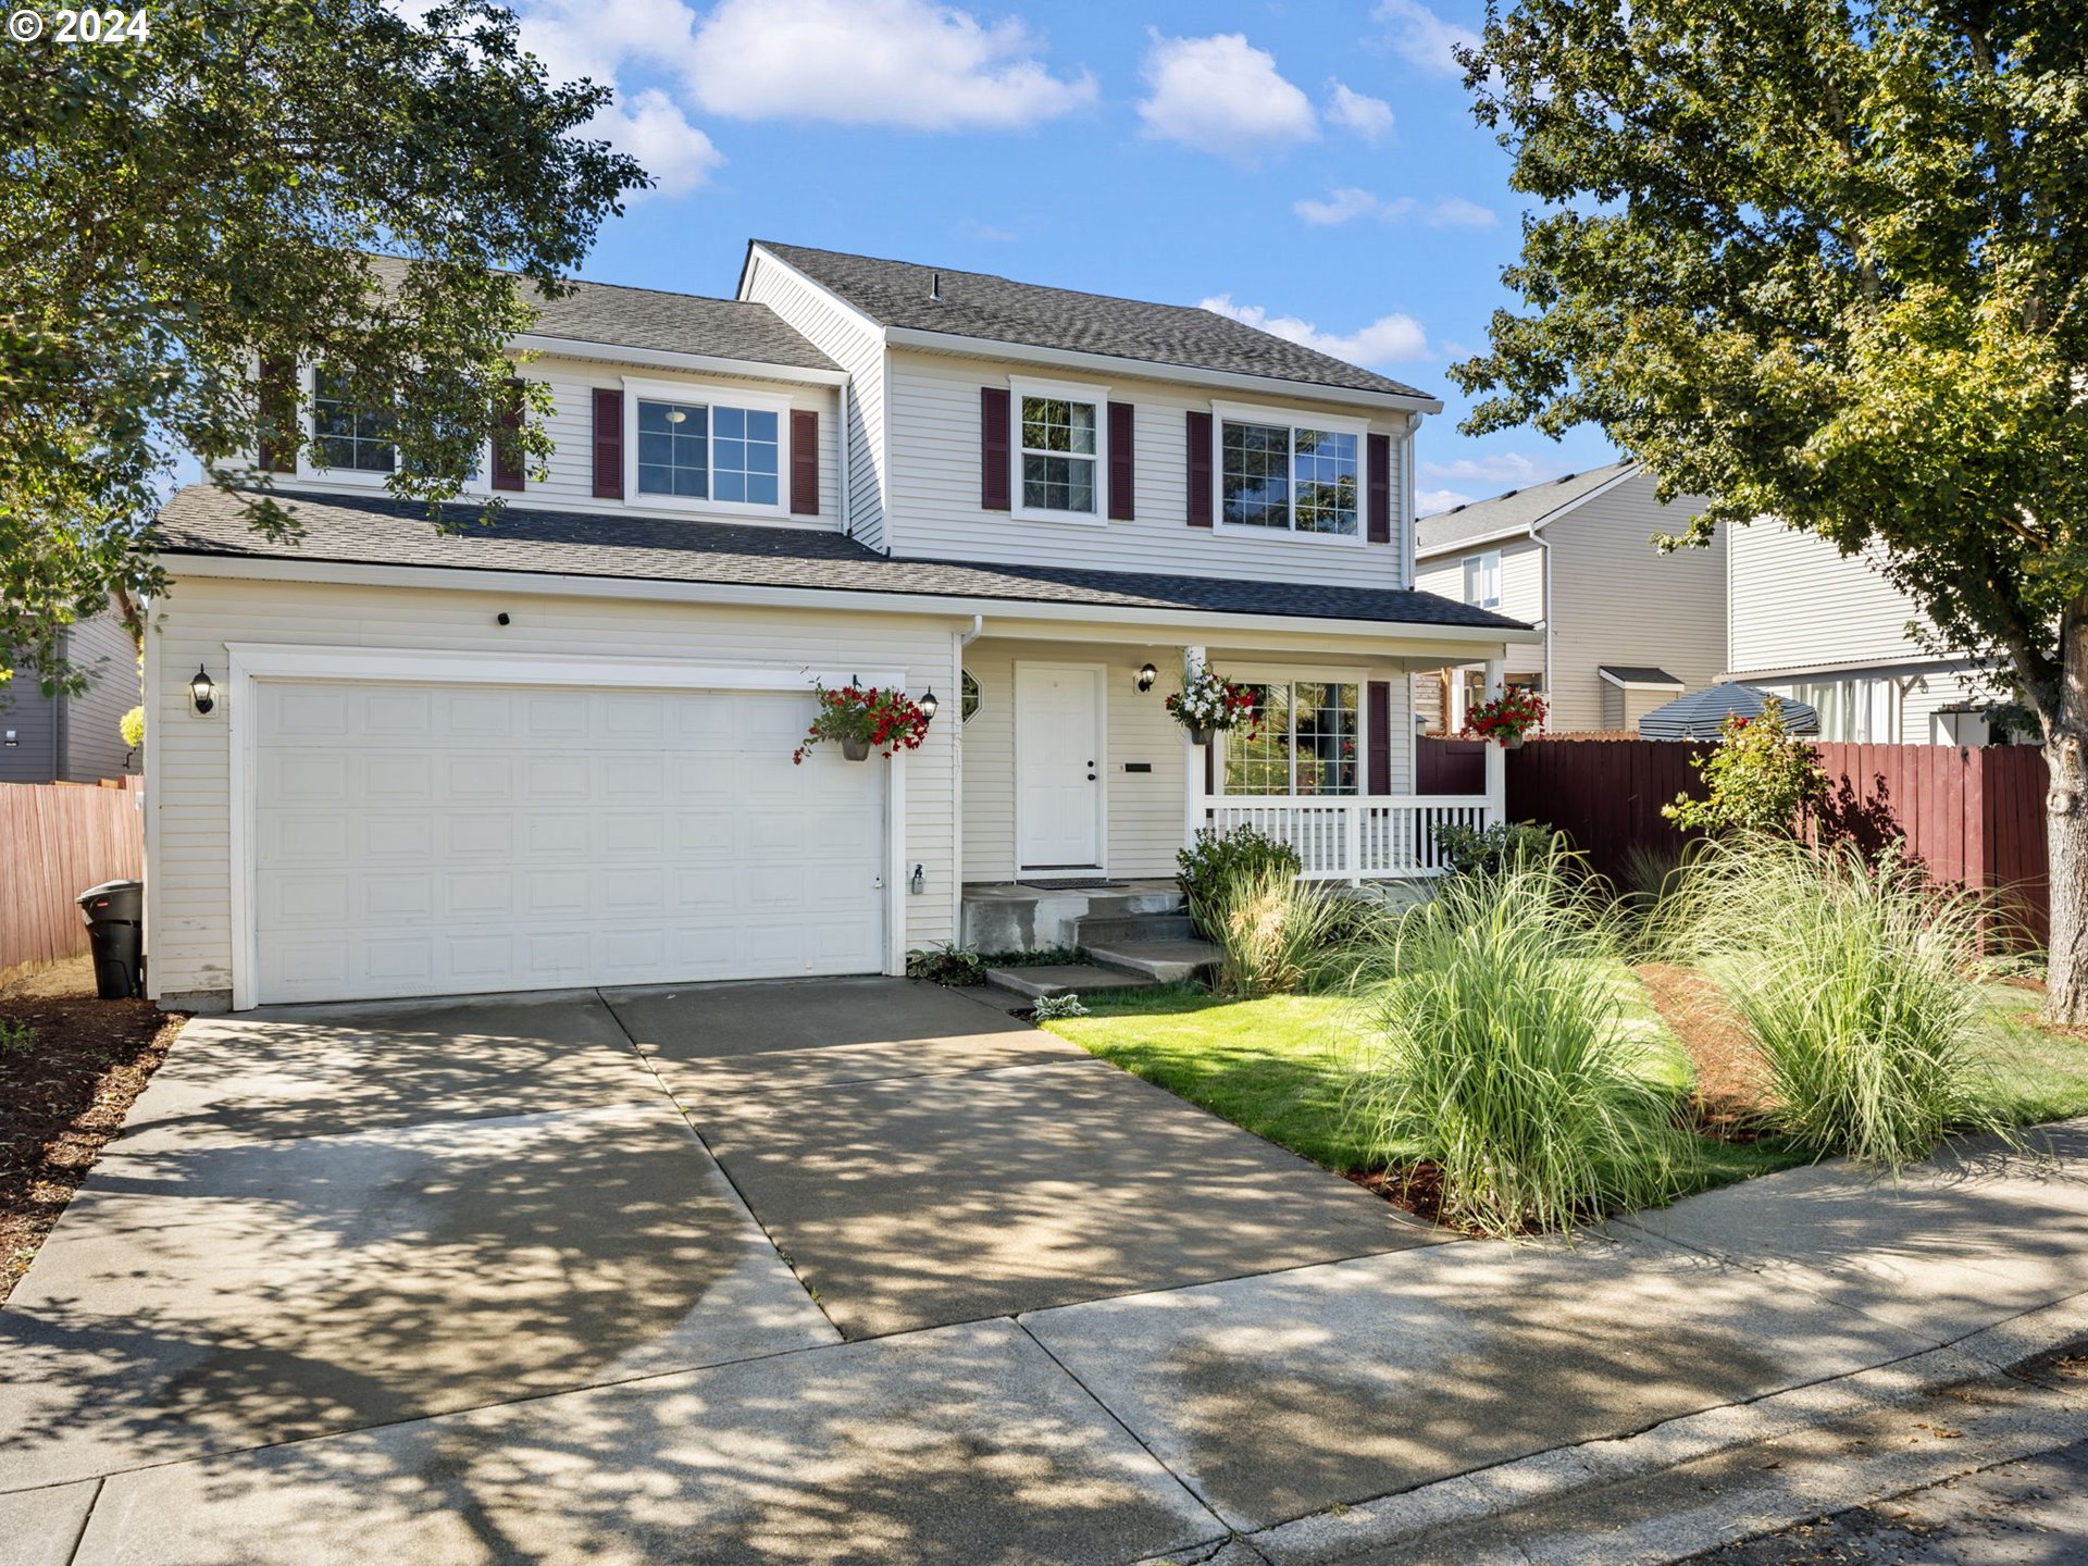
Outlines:
[[[1015,860],[1019,871],[1102,864],[1102,670],[1015,666]]]

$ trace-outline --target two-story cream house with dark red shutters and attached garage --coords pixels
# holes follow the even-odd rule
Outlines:
[[[1487,796],[1411,785],[1409,677],[1535,635],[1414,589],[1414,386],[766,242],[735,299],[583,284],[516,347],[555,455],[487,455],[493,526],[388,499],[382,422],[324,395],[301,537],[165,507],[157,998],[898,973],[967,887],[1171,877],[1242,821],[1309,875],[1426,875],[1499,810],[1497,758]],[[1257,741],[1190,741],[1184,662],[1255,685]],[[793,764],[814,679],[933,693],[925,743]]]

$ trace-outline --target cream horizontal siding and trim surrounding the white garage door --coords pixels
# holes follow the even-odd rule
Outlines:
[[[950,622],[929,616],[207,576],[177,576],[159,612],[148,793],[148,808],[159,812],[148,910],[159,996],[221,994],[232,986],[226,722],[232,695],[228,691],[217,712],[198,718],[186,691],[198,662],[226,683],[226,643],[677,658],[787,670],[864,664],[904,668],[917,693],[929,685],[938,693],[956,691]],[[495,626],[503,612],[512,624]],[[923,896],[906,898],[906,946],[948,940],[954,929],[954,708],[946,704],[921,750],[900,762],[906,768],[906,869],[921,864],[927,879]],[[804,714],[810,720],[810,697]]]

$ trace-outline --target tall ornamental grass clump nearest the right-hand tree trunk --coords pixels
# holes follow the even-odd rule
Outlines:
[[[1984,1105],[1986,906],[1888,850],[1712,844],[1683,871],[1672,942],[1725,990],[1769,1063],[1775,1125],[1819,1155],[1898,1169]]]

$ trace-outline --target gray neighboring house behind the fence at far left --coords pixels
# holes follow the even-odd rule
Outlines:
[[[0,685],[0,783],[94,783],[140,770],[123,743],[138,706],[138,647],[123,622],[98,614],[65,628],[61,654],[88,677],[79,695],[44,695],[27,670]]]

